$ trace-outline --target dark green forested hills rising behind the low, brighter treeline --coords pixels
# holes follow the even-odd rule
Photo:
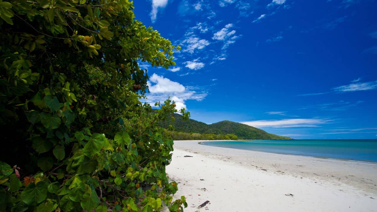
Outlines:
[[[175,131],[177,132],[223,135],[234,134],[237,135],[238,139],[291,139],[290,137],[270,134],[264,130],[233,121],[220,121],[218,123],[206,124],[193,119],[183,121],[182,115],[179,114],[174,114],[174,117],[174,121],[160,123],[160,126],[167,129],[169,124],[171,124],[175,127]]]

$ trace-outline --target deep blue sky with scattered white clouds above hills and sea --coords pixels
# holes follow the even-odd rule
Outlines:
[[[176,66],[140,64],[147,102],[295,139],[377,139],[376,0],[137,0]]]

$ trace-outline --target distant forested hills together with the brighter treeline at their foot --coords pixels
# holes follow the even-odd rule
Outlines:
[[[173,117],[173,120],[160,122],[159,125],[165,129],[174,128],[176,132],[169,134],[174,140],[291,139],[233,121],[206,124],[192,119],[184,121],[179,114],[174,114]],[[227,134],[234,134],[236,137],[226,137]]]

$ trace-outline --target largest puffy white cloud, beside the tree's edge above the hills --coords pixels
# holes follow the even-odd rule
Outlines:
[[[185,88],[182,84],[171,81],[168,78],[153,74],[150,80],[147,82],[149,86],[150,93],[147,94],[147,99],[145,101],[151,105],[155,102],[163,102],[168,97],[171,97],[175,101],[176,109],[180,110],[186,108],[186,100],[197,100],[201,101],[206,96],[206,92],[196,92],[188,88]]]

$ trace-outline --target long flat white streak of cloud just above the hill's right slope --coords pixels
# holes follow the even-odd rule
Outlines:
[[[253,127],[273,127],[273,128],[291,128],[291,127],[318,127],[319,124],[328,123],[328,120],[319,118],[291,118],[282,120],[257,120],[244,121],[242,124],[247,124]]]

